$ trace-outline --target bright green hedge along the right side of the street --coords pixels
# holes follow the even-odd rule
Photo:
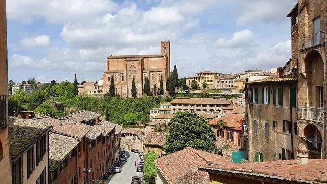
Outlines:
[[[159,155],[153,151],[148,152],[145,155],[145,163],[143,167],[143,178],[145,183],[155,183],[155,177],[157,176],[157,167],[155,166],[154,160],[159,158]]]

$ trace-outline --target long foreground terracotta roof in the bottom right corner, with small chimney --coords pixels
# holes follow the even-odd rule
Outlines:
[[[279,160],[272,162],[226,164],[216,165],[203,164],[199,167],[203,171],[228,173],[228,175],[240,175],[243,177],[264,177],[275,179],[282,183],[325,183],[327,181],[327,160],[309,159],[306,165],[299,164],[297,160]]]

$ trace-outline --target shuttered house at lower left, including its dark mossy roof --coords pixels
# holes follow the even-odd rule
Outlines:
[[[48,134],[52,125],[39,120],[10,118],[8,129],[12,183],[46,183],[49,175]]]

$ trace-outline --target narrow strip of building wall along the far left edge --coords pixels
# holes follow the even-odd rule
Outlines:
[[[6,0],[0,1],[0,178],[11,183],[8,147],[8,58]]]

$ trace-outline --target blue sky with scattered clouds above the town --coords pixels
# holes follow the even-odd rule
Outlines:
[[[160,54],[170,40],[179,77],[283,67],[296,0],[10,0],[8,73],[96,81],[110,55]]]

